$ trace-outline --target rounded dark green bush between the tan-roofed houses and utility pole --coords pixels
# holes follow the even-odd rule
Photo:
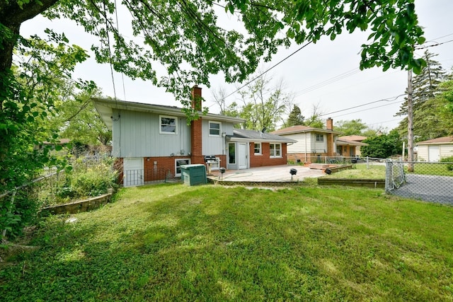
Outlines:
[[[373,158],[389,158],[390,156],[400,154],[403,148],[403,141],[396,130],[391,130],[389,134],[369,137],[363,142],[368,144],[368,146],[360,147],[362,156]]]

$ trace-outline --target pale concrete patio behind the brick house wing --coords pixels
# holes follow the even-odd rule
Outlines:
[[[250,168],[244,170],[226,170],[223,175],[218,170],[212,171],[208,178],[212,180],[223,180],[228,182],[290,182],[289,170],[297,170],[293,181],[302,181],[304,178],[318,178],[325,175],[323,170],[314,170],[303,165],[273,165],[266,167]]]

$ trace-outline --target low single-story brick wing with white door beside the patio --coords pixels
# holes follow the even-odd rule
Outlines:
[[[294,144],[294,139],[256,130],[234,129],[232,136],[226,136],[228,142],[227,168],[239,170],[265,165],[285,165],[287,163],[287,145]]]

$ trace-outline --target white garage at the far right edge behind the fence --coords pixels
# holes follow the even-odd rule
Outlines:
[[[439,137],[417,144],[418,161],[440,161],[441,158],[453,156],[453,137]]]

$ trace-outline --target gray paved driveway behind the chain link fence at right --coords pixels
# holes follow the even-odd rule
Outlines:
[[[453,205],[453,177],[406,174],[406,184],[391,194]]]

